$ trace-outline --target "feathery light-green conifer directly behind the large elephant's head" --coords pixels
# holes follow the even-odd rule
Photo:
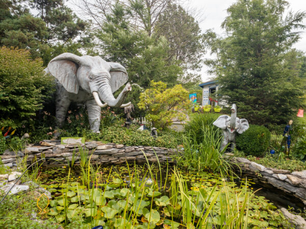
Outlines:
[[[116,3],[107,15],[107,21],[95,32],[104,59],[122,64],[129,79],[141,87],[148,87],[150,80],[162,80],[175,85],[182,69],[169,64],[165,38],[155,40],[143,30],[135,30],[129,21],[131,12]]]

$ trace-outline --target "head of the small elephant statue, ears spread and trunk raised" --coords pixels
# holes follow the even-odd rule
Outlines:
[[[242,134],[249,128],[248,121],[246,119],[237,118],[237,107],[236,104],[233,104],[232,115],[230,116],[220,116],[214,123],[216,127],[219,127],[222,130],[227,129],[228,132],[234,133],[235,131],[239,134]]]

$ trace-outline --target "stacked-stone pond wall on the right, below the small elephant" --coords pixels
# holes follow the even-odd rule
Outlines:
[[[284,169],[266,168],[246,158],[233,157],[231,161],[241,166],[242,173],[270,184],[278,189],[301,199],[306,205],[306,170],[291,171]]]

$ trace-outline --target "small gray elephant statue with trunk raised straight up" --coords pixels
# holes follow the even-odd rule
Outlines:
[[[237,107],[236,104],[233,104],[231,117],[223,115],[219,116],[219,118],[213,123],[216,127],[222,129],[223,132],[223,141],[221,144],[221,151],[224,147],[231,142],[231,151],[235,148],[235,137],[236,132],[242,134],[249,128],[248,122],[246,119],[237,118]]]

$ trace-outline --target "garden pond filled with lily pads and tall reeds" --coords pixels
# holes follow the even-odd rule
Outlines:
[[[48,216],[66,227],[289,228],[277,208],[303,207],[252,179],[159,164],[48,167],[38,180],[53,196]]]

